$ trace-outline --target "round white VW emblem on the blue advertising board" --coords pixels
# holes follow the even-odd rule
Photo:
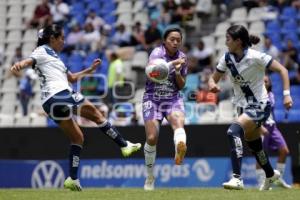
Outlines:
[[[65,174],[61,166],[52,160],[40,162],[33,170],[31,187],[60,188],[63,187]]]

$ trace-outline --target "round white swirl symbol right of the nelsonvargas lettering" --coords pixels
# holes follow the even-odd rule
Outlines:
[[[214,176],[215,172],[209,166],[209,163],[206,160],[200,159],[197,160],[192,167],[195,171],[198,179],[202,182],[210,181]]]

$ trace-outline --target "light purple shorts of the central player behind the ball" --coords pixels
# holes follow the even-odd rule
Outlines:
[[[154,100],[149,97],[143,98],[144,121],[159,120],[167,117],[174,111],[184,113],[183,100],[176,98],[172,100]]]

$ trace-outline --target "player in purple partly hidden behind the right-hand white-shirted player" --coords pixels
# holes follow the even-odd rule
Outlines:
[[[283,180],[285,161],[287,155],[289,154],[289,149],[287,147],[287,144],[281,132],[277,128],[274,119],[275,97],[272,92],[272,82],[268,76],[265,76],[264,82],[271,103],[271,115],[264,123],[264,127],[266,129],[263,134],[263,147],[265,150],[278,152],[278,160],[277,160],[276,168],[280,172],[281,177],[277,181],[275,181],[274,184],[283,188],[291,188],[291,186]],[[261,186],[266,177],[264,171],[261,169],[261,167],[258,164],[256,164],[256,175],[257,175],[258,186]]]

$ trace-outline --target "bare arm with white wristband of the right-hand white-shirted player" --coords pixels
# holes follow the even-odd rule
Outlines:
[[[283,104],[286,109],[290,109],[293,106],[293,100],[290,94],[290,80],[287,69],[276,60],[273,60],[270,65],[270,70],[278,72],[281,75],[284,96]]]

